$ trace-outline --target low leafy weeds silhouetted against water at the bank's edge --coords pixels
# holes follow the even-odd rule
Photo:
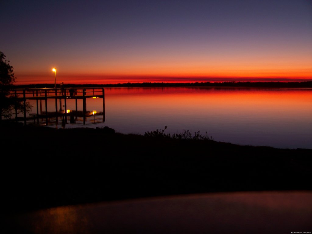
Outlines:
[[[212,136],[210,136],[207,132],[205,134],[200,134],[199,130],[198,132],[195,132],[192,134],[189,130],[184,130],[183,133],[174,133],[173,135],[170,135],[170,133],[166,134],[164,131],[168,128],[168,126],[165,126],[164,129],[156,129],[154,131],[147,131],[145,132],[144,136],[148,137],[158,137],[158,138],[172,138],[172,139],[186,139],[186,140],[214,140],[212,139]]]

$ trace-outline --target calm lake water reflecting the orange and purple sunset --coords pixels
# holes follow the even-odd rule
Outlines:
[[[74,108],[67,101],[67,109]],[[103,100],[88,99],[87,109],[103,111]],[[84,126],[126,134],[168,126],[165,133],[199,131],[234,144],[312,149],[312,89],[105,88],[105,122],[97,117],[94,123]],[[65,126],[72,127],[81,123]]]

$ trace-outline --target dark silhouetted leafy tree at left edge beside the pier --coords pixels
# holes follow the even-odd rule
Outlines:
[[[10,119],[17,108],[18,113],[24,113],[22,100],[18,100],[10,93],[14,87],[15,77],[13,73],[13,66],[6,60],[6,56],[0,51],[0,121],[2,116]],[[26,103],[26,111],[31,109],[31,105]]]

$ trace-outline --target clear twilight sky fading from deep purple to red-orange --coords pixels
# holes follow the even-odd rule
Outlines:
[[[1,1],[17,85],[312,80],[312,0]]]

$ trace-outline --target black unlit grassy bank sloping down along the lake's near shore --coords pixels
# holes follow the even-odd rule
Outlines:
[[[128,198],[311,190],[311,149],[1,125],[10,212]],[[309,178],[309,179],[308,179]]]

